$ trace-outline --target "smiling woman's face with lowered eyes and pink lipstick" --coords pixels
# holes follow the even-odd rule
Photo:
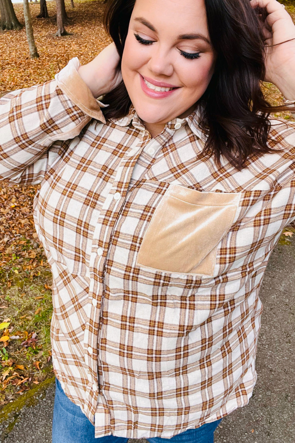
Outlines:
[[[148,128],[187,117],[207,89],[214,63],[204,0],[136,0],[122,75]]]

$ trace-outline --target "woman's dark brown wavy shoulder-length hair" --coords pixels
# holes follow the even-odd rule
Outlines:
[[[107,0],[104,26],[122,58],[135,0]],[[208,138],[203,156],[221,155],[242,169],[246,160],[274,152],[268,145],[270,112],[288,110],[272,107],[261,91],[264,78],[264,39],[258,14],[249,0],[205,0],[208,30],[217,58],[215,72],[198,101],[199,127]],[[123,82],[106,94],[106,118],[125,116],[131,101]]]

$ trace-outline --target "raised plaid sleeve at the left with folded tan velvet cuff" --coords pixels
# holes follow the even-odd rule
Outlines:
[[[42,85],[0,99],[0,180],[40,183],[60,152],[92,119],[105,123],[100,101],[80,78],[73,58]]]

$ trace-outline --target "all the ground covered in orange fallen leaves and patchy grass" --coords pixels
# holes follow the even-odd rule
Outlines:
[[[25,30],[0,32],[0,95],[54,78],[70,58],[90,61],[109,39],[98,0],[66,2],[70,24],[66,37],[54,37],[55,2],[47,1],[49,19],[36,19],[39,4],[30,3],[40,58],[31,60]],[[290,1],[288,10],[294,14]],[[23,5],[15,4],[23,23]],[[295,16],[295,14],[294,14]],[[264,93],[273,104],[282,96],[271,84]],[[290,118],[287,113],[280,114]],[[292,117],[291,117],[292,118]],[[51,273],[34,230],[32,204],[36,187],[0,183],[0,405],[13,401],[46,377],[52,377],[50,352]],[[293,235],[290,229],[284,242]]]

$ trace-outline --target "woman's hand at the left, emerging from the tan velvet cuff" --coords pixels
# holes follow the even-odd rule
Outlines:
[[[80,66],[78,73],[95,98],[119,85],[122,80],[119,62],[115,43],[111,43],[87,65]]]

